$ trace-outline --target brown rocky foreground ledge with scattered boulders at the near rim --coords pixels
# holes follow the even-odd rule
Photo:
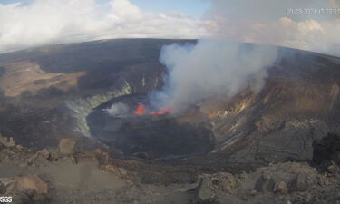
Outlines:
[[[340,203],[339,151],[334,147],[332,160],[324,158],[315,167],[282,162],[234,174],[112,159],[102,149],[75,150],[73,139],[40,151],[1,143],[0,196],[13,197],[12,203],[41,204]]]

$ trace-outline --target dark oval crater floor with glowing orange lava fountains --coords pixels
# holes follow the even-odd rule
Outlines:
[[[113,106],[122,106],[112,114]],[[146,94],[114,98],[96,107],[87,117],[93,137],[128,156],[149,160],[178,159],[206,154],[214,148],[209,120],[191,110],[195,120],[151,108]]]

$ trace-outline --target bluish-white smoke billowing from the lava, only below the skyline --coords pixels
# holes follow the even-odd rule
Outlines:
[[[277,48],[200,40],[198,44],[170,44],[161,49],[160,63],[168,69],[164,87],[151,92],[151,104],[174,113],[204,99],[230,97],[248,86],[258,91],[267,66],[277,59]]]

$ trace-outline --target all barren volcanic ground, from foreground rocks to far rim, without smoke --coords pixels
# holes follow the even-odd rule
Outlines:
[[[174,42],[195,43],[106,40],[1,54],[1,195],[16,203],[339,203],[339,58],[281,47],[259,92],[208,99],[176,117],[102,111],[124,102],[131,112],[160,89],[160,48]]]

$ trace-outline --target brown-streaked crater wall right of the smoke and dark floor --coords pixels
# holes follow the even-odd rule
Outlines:
[[[229,160],[312,160],[313,141],[339,132],[339,59],[282,50],[260,92],[245,90],[209,110],[216,151]]]

